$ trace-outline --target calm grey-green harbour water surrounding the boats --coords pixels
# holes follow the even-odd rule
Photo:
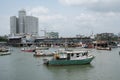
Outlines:
[[[55,49],[51,48],[50,51]],[[91,64],[45,66],[44,57],[12,48],[12,54],[0,56],[0,80],[119,80],[120,48],[112,51],[90,49]]]

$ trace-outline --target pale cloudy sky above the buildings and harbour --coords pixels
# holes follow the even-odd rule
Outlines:
[[[120,32],[120,0],[0,0],[0,35],[10,34],[10,16],[25,9],[39,18],[39,35],[60,37]]]

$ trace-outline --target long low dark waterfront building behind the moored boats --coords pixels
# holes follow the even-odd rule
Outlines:
[[[35,39],[35,44],[38,46],[61,46],[61,47],[65,47],[66,44],[68,47],[79,47],[80,42],[85,43],[85,44],[89,44],[92,43],[92,40],[90,38],[37,38]]]

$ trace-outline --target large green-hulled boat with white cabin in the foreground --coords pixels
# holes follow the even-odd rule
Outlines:
[[[88,51],[63,51],[54,54],[52,59],[43,59],[46,65],[84,65],[94,59]]]

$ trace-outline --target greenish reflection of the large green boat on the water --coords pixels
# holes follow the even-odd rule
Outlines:
[[[54,76],[54,80],[83,80],[92,68],[88,65],[72,65],[72,66],[45,66],[49,73]]]

